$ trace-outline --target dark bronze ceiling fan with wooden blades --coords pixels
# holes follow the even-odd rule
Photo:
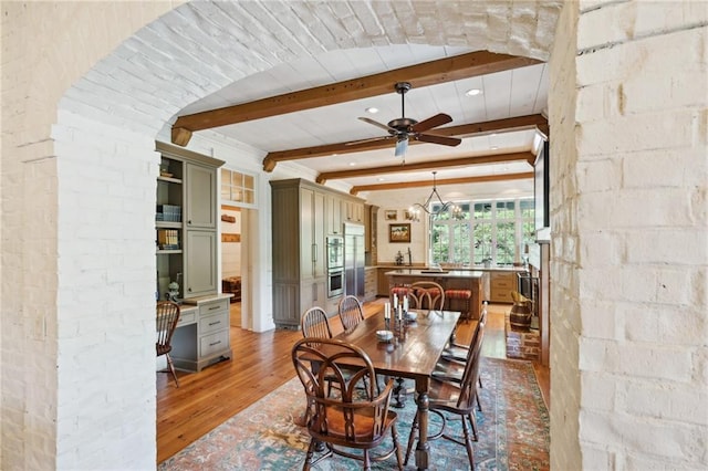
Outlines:
[[[374,140],[386,140],[386,139],[396,139],[396,157],[405,157],[406,150],[408,149],[408,140],[421,140],[424,143],[431,144],[441,144],[444,146],[458,146],[462,140],[457,137],[446,137],[446,136],[436,136],[434,134],[424,134],[428,129],[433,129],[434,127],[441,126],[444,124],[452,122],[452,118],[445,113],[439,113],[435,116],[430,116],[427,119],[423,119],[421,122],[417,122],[412,118],[407,118],[406,116],[406,104],[404,100],[404,95],[406,92],[410,90],[410,84],[408,82],[398,82],[396,83],[396,93],[400,95],[400,116],[397,119],[389,121],[388,124],[382,124],[374,119],[367,117],[361,117],[360,119],[364,123],[373,124],[374,126],[381,127],[382,129],[386,129],[388,132],[387,136],[375,137],[372,139],[363,139],[356,140],[352,144],[361,144],[361,143],[369,143]]]

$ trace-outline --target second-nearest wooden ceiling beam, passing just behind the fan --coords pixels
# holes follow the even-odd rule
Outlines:
[[[428,134],[447,137],[469,137],[476,134],[486,133],[508,133],[523,128],[537,127],[548,135],[548,119],[543,115],[518,116],[506,119],[494,119],[485,123],[461,124],[458,126],[448,126],[435,129]],[[419,140],[413,140],[410,145],[425,144]],[[268,153],[263,159],[263,171],[273,171],[279,161],[299,160],[303,158],[329,157],[333,154],[353,154],[366,150],[378,150],[393,148],[395,140],[371,140],[368,143],[358,144],[325,144],[323,146],[303,147],[300,149],[278,150]]]

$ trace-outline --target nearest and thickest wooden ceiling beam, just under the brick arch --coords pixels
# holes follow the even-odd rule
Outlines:
[[[190,133],[196,130],[394,93],[394,86],[397,82],[409,82],[414,88],[420,88],[533,65],[539,62],[530,57],[496,54],[488,51],[445,57],[254,102],[179,116],[173,125],[173,142],[175,144],[188,142]],[[179,143],[175,142],[175,137]]]

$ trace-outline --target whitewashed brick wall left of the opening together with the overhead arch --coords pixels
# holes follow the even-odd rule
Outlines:
[[[469,45],[545,60],[559,9],[177,4],[2,3],[2,469],[155,465],[153,149],[179,109],[343,48]],[[268,219],[259,224],[268,233]],[[257,250],[269,260],[267,244]],[[270,265],[259,268],[266,286]]]

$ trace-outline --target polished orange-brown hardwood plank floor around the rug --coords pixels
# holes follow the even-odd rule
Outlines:
[[[381,308],[379,299],[364,305],[366,316]],[[504,313],[509,305],[490,305],[482,354],[506,357]],[[332,331],[342,325],[335,316]],[[300,332],[271,331],[256,334],[240,325],[240,303],[231,304],[231,348],[233,358],[202,369],[200,373],[177,371],[179,388],[170,375],[157,374],[157,462],[166,460],[202,435],[246,409],[295,376],[290,348]],[[471,329],[460,324],[459,342],[469,342]],[[548,368],[534,365],[546,406],[550,375]]]

